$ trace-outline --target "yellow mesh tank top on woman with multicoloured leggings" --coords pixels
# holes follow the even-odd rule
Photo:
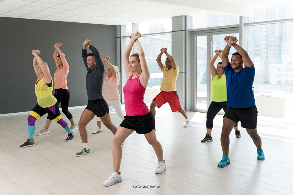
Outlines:
[[[53,91],[53,79],[51,77],[51,83],[52,87],[49,87],[43,78],[41,80],[37,80],[38,83],[35,84],[35,94],[37,96],[37,101],[38,104],[42,108],[47,108],[50,106],[53,106],[56,102],[57,99],[52,96],[52,91]]]

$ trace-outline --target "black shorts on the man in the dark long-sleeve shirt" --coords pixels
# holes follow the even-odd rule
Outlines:
[[[106,113],[109,114],[109,107],[107,102],[104,100],[104,98],[96,99],[96,100],[88,100],[88,105],[86,106],[86,109],[95,113],[97,117],[102,117]]]

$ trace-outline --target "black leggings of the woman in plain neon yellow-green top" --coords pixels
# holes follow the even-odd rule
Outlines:
[[[224,112],[227,110],[227,102],[226,101],[219,101],[215,102],[212,101],[209,105],[209,109],[207,109],[207,129],[213,128],[213,120],[217,113],[223,108]]]

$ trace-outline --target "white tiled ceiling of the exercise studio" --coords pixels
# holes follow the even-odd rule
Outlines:
[[[292,0],[278,0],[277,3]],[[249,16],[275,0],[0,0],[0,17],[126,25],[201,11]]]

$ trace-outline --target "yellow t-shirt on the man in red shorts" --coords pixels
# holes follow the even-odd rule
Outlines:
[[[162,72],[163,80],[160,90],[164,92],[176,92],[176,80],[179,74],[179,66],[177,66],[175,70],[174,68],[168,70],[166,65],[163,65]]]

